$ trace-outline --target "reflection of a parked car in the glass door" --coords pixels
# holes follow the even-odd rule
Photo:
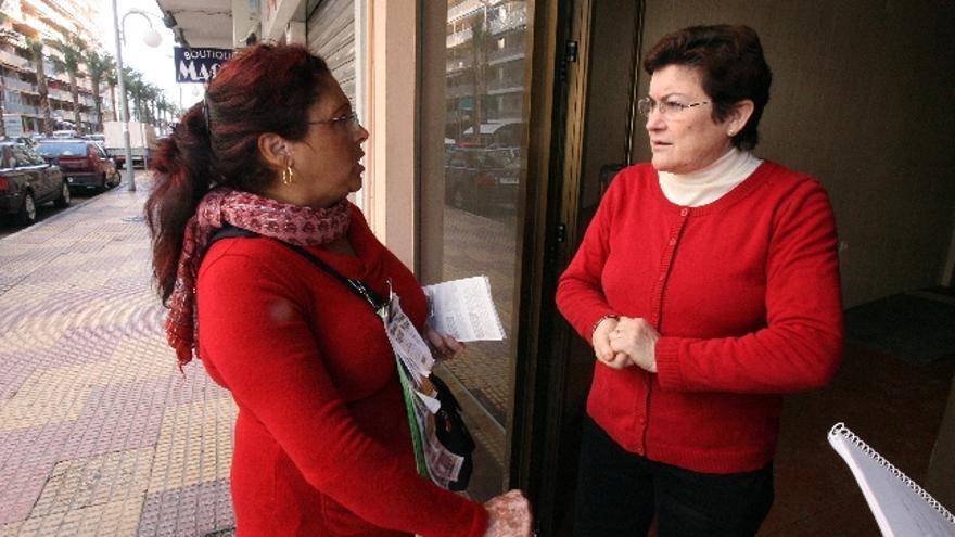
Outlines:
[[[446,154],[445,201],[478,213],[513,210],[521,177],[518,148],[455,148]]]

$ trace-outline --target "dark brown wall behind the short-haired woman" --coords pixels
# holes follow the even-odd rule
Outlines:
[[[951,278],[955,3],[647,0],[644,51],[714,23],[760,34],[774,82],[755,153],[828,189],[845,306]],[[647,84],[642,75],[640,94]],[[649,158],[642,129],[634,157]]]

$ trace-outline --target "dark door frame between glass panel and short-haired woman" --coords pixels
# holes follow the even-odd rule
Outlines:
[[[517,356],[512,371],[513,406],[508,429],[509,487],[525,491],[539,535],[566,534],[565,504],[572,494],[561,465],[576,461],[577,438],[564,442],[571,346],[577,334],[562,320],[553,296],[560,274],[576,252],[581,219],[582,157],[589,99],[590,33],[596,0],[535,2],[529,22],[533,59],[529,73],[527,182],[523,196],[524,234],[515,310],[519,311]],[[644,0],[634,20],[632,95],[638,88],[637,57]],[[576,42],[576,59],[568,43]],[[636,99],[631,98],[632,104]],[[627,111],[627,132],[621,140],[629,164],[636,111]],[[572,447],[568,447],[570,444]],[[570,451],[573,452],[570,452]],[[574,468],[576,464],[574,463]],[[575,472],[573,472],[575,474]],[[564,473],[565,475],[565,473]]]

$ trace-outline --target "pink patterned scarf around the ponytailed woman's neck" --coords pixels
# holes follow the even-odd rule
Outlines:
[[[195,278],[208,240],[217,229],[231,223],[298,246],[318,246],[348,231],[349,205],[347,200],[342,200],[329,208],[316,209],[226,188],[206,194],[186,223],[176,285],[169,296],[166,337],[176,349],[179,366],[192,359],[199,340]]]

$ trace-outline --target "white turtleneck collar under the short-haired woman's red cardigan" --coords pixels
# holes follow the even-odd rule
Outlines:
[[[676,205],[699,207],[723,197],[762,162],[748,151],[733,148],[710,166],[690,174],[660,171],[660,189]]]

